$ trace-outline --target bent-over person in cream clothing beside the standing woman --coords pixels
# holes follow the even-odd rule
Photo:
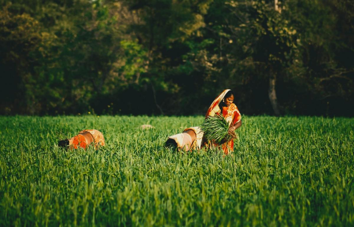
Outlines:
[[[204,132],[200,127],[184,129],[182,133],[169,136],[166,147],[175,147],[178,151],[200,150]]]

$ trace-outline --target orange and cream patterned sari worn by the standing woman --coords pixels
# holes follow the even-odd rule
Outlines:
[[[237,106],[232,103],[230,106],[222,107],[220,109],[219,104],[224,99],[226,93],[230,91],[230,89],[226,89],[211,103],[208,111],[206,112],[205,118],[213,117],[215,114],[222,114],[226,121],[229,123],[229,126],[232,126],[238,123],[241,120],[241,114]],[[228,154],[234,151],[234,140],[230,140],[229,142],[225,142],[222,144],[212,143],[211,141],[206,141],[204,143],[205,147],[210,149],[221,146],[224,151],[224,154]]]

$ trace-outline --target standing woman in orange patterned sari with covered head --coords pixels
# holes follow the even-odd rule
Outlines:
[[[222,114],[226,121],[229,123],[229,134],[236,137],[235,130],[241,125],[241,114],[234,102],[234,93],[230,89],[224,90],[210,105],[206,112],[205,118],[213,117],[215,114]],[[224,142],[222,144],[205,141],[204,146],[210,149],[221,146],[224,154],[234,151],[234,140]]]

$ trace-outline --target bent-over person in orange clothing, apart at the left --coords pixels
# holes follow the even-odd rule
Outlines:
[[[70,149],[86,148],[90,145],[98,149],[99,146],[104,146],[104,137],[102,133],[96,129],[85,129],[79,132],[78,135],[58,142],[59,147],[69,147]]]

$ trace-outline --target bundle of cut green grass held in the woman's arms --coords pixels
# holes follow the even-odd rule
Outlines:
[[[200,128],[209,141],[221,143],[222,140],[229,141],[232,139],[232,135],[228,133],[229,124],[221,114],[206,118]]]

